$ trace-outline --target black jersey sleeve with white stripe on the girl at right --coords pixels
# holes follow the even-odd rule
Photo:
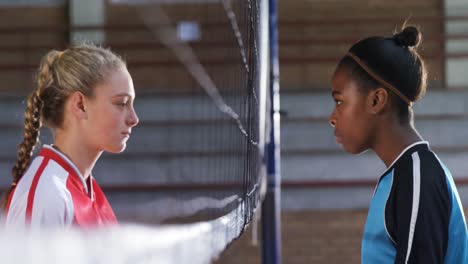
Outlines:
[[[443,263],[448,240],[450,200],[438,162],[418,152],[394,171],[386,225],[396,246],[395,263]]]

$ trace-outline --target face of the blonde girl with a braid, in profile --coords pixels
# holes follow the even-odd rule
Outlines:
[[[134,99],[133,81],[126,67],[110,72],[107,82],[95,87],[94,96],[86,103],[83,132],[88,144],[98,151],[124,151],[132,128],[138,124]]]

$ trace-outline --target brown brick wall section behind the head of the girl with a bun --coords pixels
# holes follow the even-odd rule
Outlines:
[[[425,36],[419,49],[423,57],[434,57],[443,50],[443,43],[435,39],[443,32],[443,22],[424,19],[442,15],[441,0],[280,0],[278,10],[283,90],[328,88],[336,63],[354,42],[373,35],[390,36],[407,19]],[[372,20],[375,18],[381,20]],[[442,58],[426,62],[429,86],[440,88]]]

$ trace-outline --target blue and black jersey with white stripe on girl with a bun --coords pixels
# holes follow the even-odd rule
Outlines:
[[[407,147],[380,178],[362,263],[468,263],[463,207],[450,171],[427,142]]]

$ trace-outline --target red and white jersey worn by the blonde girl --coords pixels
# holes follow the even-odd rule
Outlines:
[[[11,193],[7,227],[66,227],[116,224],[104,193],[85,181],[65,155],[44,145]]]

